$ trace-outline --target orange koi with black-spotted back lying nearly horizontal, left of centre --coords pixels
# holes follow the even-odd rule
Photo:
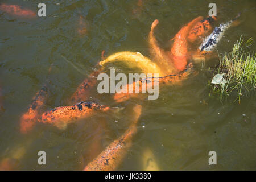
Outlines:
[[[106,105],[100,105],[94,102],[80,102],[72,106],[56,107],[55,109],[46,111],[38,121],[52,123],[59,129],[65,129],[68,123],[89,117],[93,111],[107,111],[109,109]]]

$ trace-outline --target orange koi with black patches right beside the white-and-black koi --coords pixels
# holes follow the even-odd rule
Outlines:
[[[189,31],[187,39],[189,42],[195,42],[199,36],[205,36],[212,30],[212,24],[217,20],[215,16],[209,16],[197,22],[195,26]]]

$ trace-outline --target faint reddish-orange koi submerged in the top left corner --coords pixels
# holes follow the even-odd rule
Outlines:
[[[34,11],[28,9],[22,9],[18,5],[6,5],[1,4],[0,10],[5,11],[8,14],[15,15],[15,16],[22,16],[24,18],[35,18],[36,13]]]

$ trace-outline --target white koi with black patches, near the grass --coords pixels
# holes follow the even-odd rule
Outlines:
[[[212,34],[207,36],[207,38],[204,39],[204,42],[200,45],[200,51],[212,51],[216,47],[217,43],[221,40],[224,32],[232,25],[234,20],[240,17],[240,15],[241,13],[239,13],[236,18],[230,20],[229,22],[221,23],[219,27],[214,28]]]

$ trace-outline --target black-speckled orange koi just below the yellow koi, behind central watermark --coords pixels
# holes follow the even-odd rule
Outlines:
[[[123,102],[128,100],[131,97],[141,97],[141,94],[135,93],[135,85],[139,86],[139,93],[142,93],[142,88],[147,88],[148,84],[155,85],[155,81],[159,84],[177,84],[178,82],[184,80],[190,73],[190,70],[192,69],[192,64],[189,63],[187,68],[184,69],[183,72],[179,74],[173,74],[173,75],[167,75],[164,77],[150,77],[150,78],[144,78],[137,82],[133,82],[133,84],[127,84],[123,86],[121,90],[119,90],[118,93],[114,94],[114,100],[115,102]],[[129,93],[129,86],[133,88],[133,93]],[[150,86],[151,87],[151,86]],[[144,94],[146,95],[146,94]]]

